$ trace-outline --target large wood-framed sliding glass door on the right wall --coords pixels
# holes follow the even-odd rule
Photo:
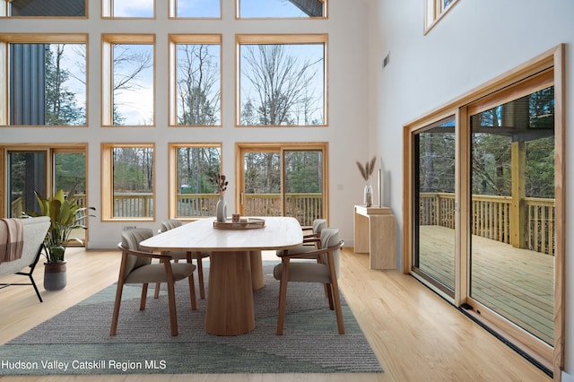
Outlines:
[[[565,128],[555,54],[405,126],[403,244],[404,272],[560,371]]]

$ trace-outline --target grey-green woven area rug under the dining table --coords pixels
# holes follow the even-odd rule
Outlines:
[[[345,334],[338,334],[320,284],[289,284],[284,334],[275,335],[279,282],[273,266],[265,265],[264,275],[249,334],[206,334],[205,300],[191,310],[187,282],[178,282],[178,336],[170,335],[165,285],[158,300],[150,288],[144,311],[141,287],[126,285],[117,335],[110,336],[113,284],[0,346],[0,375],[383,372],[344,299]]]

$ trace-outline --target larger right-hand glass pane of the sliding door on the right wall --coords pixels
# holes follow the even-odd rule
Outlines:
[[[554,88],[471,112],[470,297],[553,343]]]

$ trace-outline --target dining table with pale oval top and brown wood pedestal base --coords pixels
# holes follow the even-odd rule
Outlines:
[[[248,334],[255,329],[253,291],[264,287],[261,251],[299,246],[303,233],[292,217],[244,218],[240,224],[201,219],[140,243],[153,251],[211,252],[205,331]]]

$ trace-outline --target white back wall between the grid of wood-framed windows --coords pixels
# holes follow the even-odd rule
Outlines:
[[[0,129],[1,143],[89,143],[88,197],[97,218],[89,221],[90,248],[114,248],[126,222],[100,221],[100,143],[155,143],[156,221],[136,223],[159,228],[168,218],[168,143],[222,143],[222,169],[230,178],[228,212],[235,209],[235,143],[328,142],[330,225],[342,231],[352,246],[353,204],[361,203],[363,182],[354,161],[367,161],[369,132],[367,6],[362,2],[332,1],[329,17],[309,20],[235,20],[235,2],[222,1],[222,21],[169,21],[167,1],[156,0],[156,19],[114,21],[100,19],[100,2],[89,2],[86,20],[0,20],[0,33],[89,33],[89,120],[87,128]],[[156,34],[155,127],[101,127],[100,34]],[[222,33],[222,128],[169,128],[168,34]],[[236,33],[328,33],[328,127],[237,128],[235,112]]]

